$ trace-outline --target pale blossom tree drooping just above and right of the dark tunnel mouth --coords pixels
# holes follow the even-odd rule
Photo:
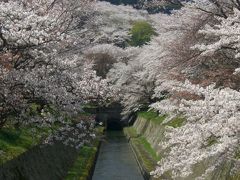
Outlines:
[[[138,111],[148,103],[153,90],[153,79],[145,71],[141,61],[137,63],[137,56],[141,49],[126,50],[125,60],[120,60],[108,73],[108,78],[114,87],[120,90],[120,99],[124,106],[124,115]],[[129,60],[128,60],[129,59]]]

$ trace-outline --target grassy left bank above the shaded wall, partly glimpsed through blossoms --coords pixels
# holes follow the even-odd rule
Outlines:
[[[31,106],[31,111],[35,112],[37,111],[37,108],[38,106],[33,104]],[[88,114],[83,115],[87,116]],[[65,120],[68,122],[74,122],[74,119],[68,118],[67,116]],[[55,123],[51,128],[14,128],[12,124],[6,124],[0,129],[0,164],[16,158],[33,146],[39,144],[42,139],[46,138],[52,131],[56,131],[60,126],[61,124]],[[103,130],[103,127],[97,128],[97,133],[102,133]]]

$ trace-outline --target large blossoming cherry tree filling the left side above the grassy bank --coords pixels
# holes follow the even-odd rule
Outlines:
[[[92,6],[74,0],[0,3],[2,125],[31,103],[79,112],[84,103],[109,99],[107,81],[77,52],[69,55],[84,40],[78,35]]]

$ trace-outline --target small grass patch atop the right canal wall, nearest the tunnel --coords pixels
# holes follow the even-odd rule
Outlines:
[[[151,110],[138,112],[138,117],[142,117],[156,124],[161,124],[167,115],[159,115],[157,112]]]

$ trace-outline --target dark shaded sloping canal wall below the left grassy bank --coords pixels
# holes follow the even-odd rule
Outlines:
[[[61,143],[36,146],[0,166],[1,180],[59,180],[67,175],[77,151]]]

